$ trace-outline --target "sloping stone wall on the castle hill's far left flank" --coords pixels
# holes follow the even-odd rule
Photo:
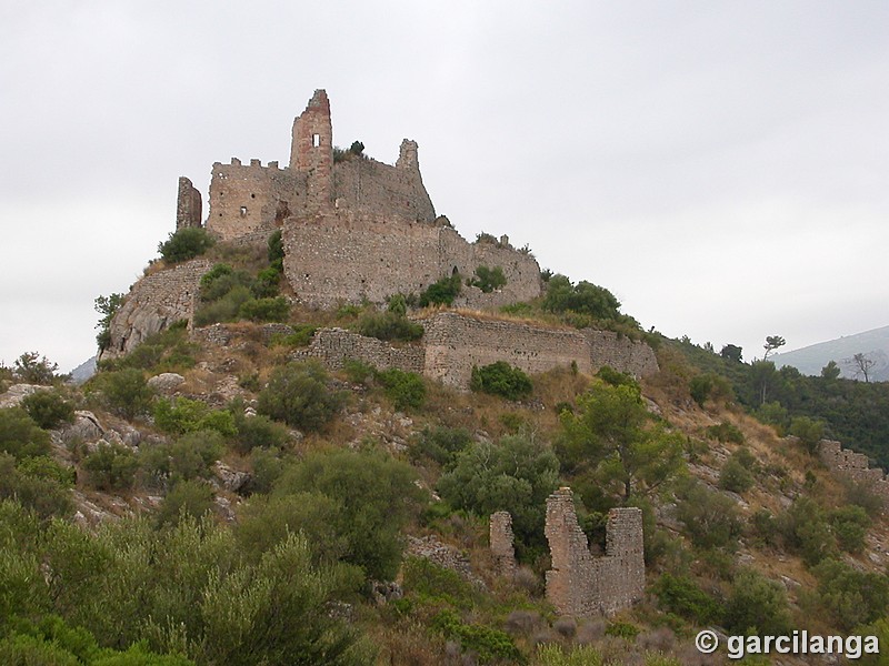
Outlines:
[[[127,354],[180,320],[191,321],[201,276],[211,265],[206,259],[193,259],[139,280],[111,320],[111,344],[100,360]]]

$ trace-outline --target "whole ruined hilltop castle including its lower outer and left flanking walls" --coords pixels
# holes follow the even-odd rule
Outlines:
[[[419,293],[442,278],[472,276],[481,266],[500,269],[506,284],[482,292],[465,284],[457,307],[497,310],[541,294],[540,266],[502,236],[467,242],[444,216],[437,216],[420,175],[417,143],[401,143],[394,165],[361,150],[333,148],[330,102],[317,90],[293,122],[290,163],[262,165],[232,159],[213,164],[210,210],[202,219],[201,194],[179,179],[177,229],[203,226],[218,240],[264,245],[281,231],[284,276],[296,300],[316,307],[370,302],[382,305],[397,293]],[[126,354],[173,322],[193,319],[207,259],[152,272],[131,289],[110,326],[102,357]],[[560,330],[497,317],[434,312],[423,320],[419,343],[390,346],[340,329],[321,329],[294,357],[341,367],[361,359],[377,367],[399,367],[458,389],[469,385],[473,365],[507,361],[526,372],[573,366],[593,373],[602,365],[640,376],[658,369],[651,349],[609,331]],[[224,337],[219,333],[207,339]]]

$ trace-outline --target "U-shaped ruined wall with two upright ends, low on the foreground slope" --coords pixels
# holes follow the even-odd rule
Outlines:
[[[546,535],[552,559],[552,568],[547,572],[547,599],[559,613],[611,615],[642,598],[640,509],[609,512],[606,555],[593,557],[577,522],[571,488],[561,487],[547,500]]]

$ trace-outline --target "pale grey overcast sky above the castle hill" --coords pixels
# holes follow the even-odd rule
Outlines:
[[[94,351],[231,157],[420,144],[439,213],[762,355],[889,324],[889,3],[0,0],[0,361]]]

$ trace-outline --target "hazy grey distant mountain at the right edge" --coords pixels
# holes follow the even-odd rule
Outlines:
[[[830,361],[836,361],[841,371],[840,376],[863,381],[863,375],[851,361],[856,354],[865,354],[873,361],[873,366],[868,371],[869,381],[889,381],[889,326],[819,342],[783,354],[775,354],[770,356],[770,360],[775,361],[777,367],[792,365],[807,375],[821,374],[825,365]]]

